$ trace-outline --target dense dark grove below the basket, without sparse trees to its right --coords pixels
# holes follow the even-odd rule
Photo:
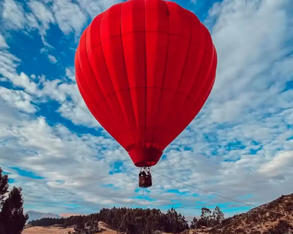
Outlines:
[[[122,220],[125,216],[124,222]],[[68,218],[42,218],[30,221],[33,226],[50,226],[62,224],[64,226],[76,225],[75,233],[91,232],[91,228],[97,229],[97,222],[107,223],[113,230],[125,232],[127,234],[145,233],[151,234],[156,231],[167,233],[180,233],[188,229],[185,217],[178,214],[174,208],[162,213],[159,209],[128,209],[112,208],[101,209],[99,213],[88,216],[71,216]],[[121,227],[120,227],[121,226]]]

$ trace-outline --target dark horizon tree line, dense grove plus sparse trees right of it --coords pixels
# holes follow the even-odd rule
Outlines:
[[[203,207],[200,217],[194,217],[190,226],[185,217],[171,208],[166,213],[160,209],[141,208],[103,208],[100,212],[87,216],[71,216],[67,218],[42,218],[30,221],[32,226],[51,226],[59,224],[62,226],[75,225],[75,232],[97,233],[98,222],[102,221],[109,225],[109,228],[127,234],[152,234],[152,233],[181,233],[185,230],[196,229],[202,226],[215,227],[222,224],[224,213],[217,206],[212,212]],[[122,222],[123,221],[123,222]]]

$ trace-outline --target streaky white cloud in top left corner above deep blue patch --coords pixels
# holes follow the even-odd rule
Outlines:
[[[47,30],[51,24],[57,24],[60,30],[69,35],[74,32],[76,38],[85,27],[89,17],[92,19],[103,10],[120,2],[119,0],[70,0],[27,1],[19,3],[14,0],[4,0],[1,19],[4,26],[14,30],[38,29],[42,42],[46,47],[52,47],[47,42]],[[30,11],[25,12],[28,8]]]

